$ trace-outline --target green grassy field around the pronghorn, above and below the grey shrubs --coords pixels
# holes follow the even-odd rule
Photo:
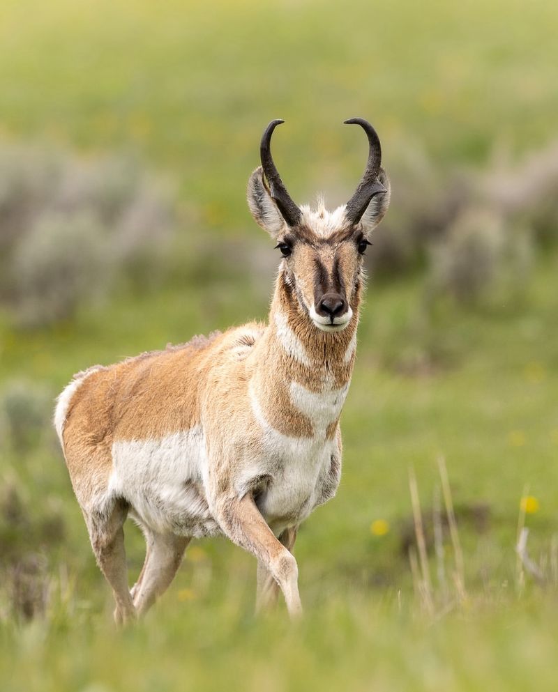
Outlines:
[[[202,233],[216,254],[225,237],[253,237],[254,255],[271,254],[243,201],[271,117],[288,121],[275,151],[295,199],[324,189],[340,202],[352,190],[362,142],[339,123],[353,114],[377,124],[386,167],[391,149],[407,142],[446,169],[485,162],[495,146],[520,153],[549,141],[558,8],[541,1],[525,11],[499,0],[350,8],[7,1],[1,132],[91,156],[131,149],[167,171],[186,220],[178,264],[183,256],[191,266],[188,238]],[[393,205],[405,205],[396,191]],[[234,257],[239,268],[253,261]],[[372,277],[342,417],[342,483],[301,529],[306,616],[294,625],[284,608],[255,619],[254,560],[216,539],[193,544],[144,622],[115,631],[54,433],[41,423],[19,440],[0,426],[1,688],[555,690],[557,275],[550,246],[538,251],[520,298],[467,309],[428,305],[420,272]],[[210,264],[195,279],[174,272],[157,290],[122,289],[31,332],[0,314],[0,390],[24,383],[47,417],[61,387],[89,364],[264,318],[272,276],[251,276],[219,276]],[[461,590],[445,525],[445,576],[435,553],[440,456],[462,548]],[[423,507],[432,607],[409,564],[409,468]],[[526,496],[529,552],[543,586],[515,555]],[[135,578],[143,544],[132,525],[127,539]],[[33,603],[42,605],[27,617]]]

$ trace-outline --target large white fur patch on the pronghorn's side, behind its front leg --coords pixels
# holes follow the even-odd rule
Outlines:
[[[204,491],[202,426],[159,440],[119,440],[112,445],[112,459],[110,493],[130,502],[141,523],[188,536],[218,531]]]

